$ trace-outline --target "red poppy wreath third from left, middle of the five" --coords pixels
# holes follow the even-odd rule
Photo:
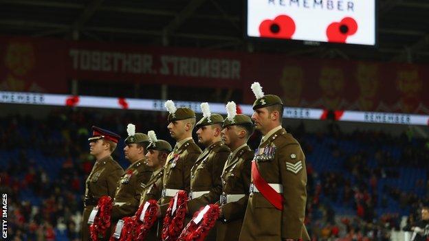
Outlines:
[[[139,222],[140,225],[137,226],[136,232],[137,232],[137,241],[143,241],[144,238],[146,238],[149,230],[151,227],[155,224],[155,221],[157,220],[157,212],[158,212],[158,206],[156,200],[148,200],[147,203],[149,203],[149,206],[147,207],[146,211],[144,212],[144,218],[143,222]],[[137,210],[137,213],[135,213],[135,217],[138,221],[140,220],[140,216],[142,214],[142,209],[144,207],[144,204],[140,205],[140,213],[139,210]]]

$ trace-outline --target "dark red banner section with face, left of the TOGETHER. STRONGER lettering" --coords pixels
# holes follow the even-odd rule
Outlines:
[[[45,38],[0,38],[0,90],[66,93],[66,48]]]

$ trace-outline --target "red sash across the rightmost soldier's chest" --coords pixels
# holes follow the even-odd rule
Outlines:
[[[283,196],[276,192],[268,183],[263,179],[259,173],[256,161],[252,161],[252,177],[253,183],[261,194],[272,204],[276,209],[283,210]]]

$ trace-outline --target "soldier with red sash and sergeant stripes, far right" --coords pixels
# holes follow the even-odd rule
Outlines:
[[[252,184],[239,240],[310,240],[304,225],[305,155],[282,128],[283,102],[258,82],[252,119],[263,137],[252,161]]]

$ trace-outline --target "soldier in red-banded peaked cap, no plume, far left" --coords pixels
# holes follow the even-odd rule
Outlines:
[[[92,137],[88,139],[89,150],[96,157],[96,163],[85,183],[82,240],[90,240],[88,218],[92,209],[96,207],[98,199],[104,195],[113,198],[118,180],[124,173],[122,167],[111,157],[120,136],[97,126],[92,126],[92,129]],[[109,233],[111,233],[110,230],[107,230],[105,240],[109,239]]]

